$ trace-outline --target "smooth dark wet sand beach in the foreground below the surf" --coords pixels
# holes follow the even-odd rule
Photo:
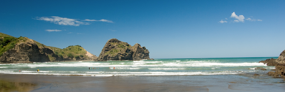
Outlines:
[[[225,75],[223,75],[225,76]],[[0,74],[0,91],[97,91],[97,92],[252,92],[282,91],[284,83],[251,82],[231,76],[56,76],[32,74]],[[207,78],[209,77],[209,78]],[[217,78],[216,78],[217,77]],[[221,79],[218,79],[221,78]],[[232,81],[235,80],[235,81]],[[257,84],[256,84],[257,83]],[[14,86],[12,84],[15,84]],[[1,86],[2,87],[2,86]],[[266,88],[266,89],[265,89]]]

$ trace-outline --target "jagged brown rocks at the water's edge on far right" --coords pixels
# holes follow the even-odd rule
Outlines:
[[[264,63],[267,66],[275,66],[275,69],[267,74],[273,76],[273,78],[283,78],[285,80],[285,50],[281,52],[277,59],[266,59],[264,61],[259,61],[259,63]]]

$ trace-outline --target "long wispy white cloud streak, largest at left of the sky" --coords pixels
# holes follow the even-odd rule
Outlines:
[[[52,22],[58,25],[71,25],[71,26],[79,26],[79,25],[89,25],[89,22],[83,22],[83,21],[101,21],[101,22],[109,22],[109,23],[114,23],[111,20],[89,20],[89,19],[85,19],[85,20],[78,20],[78,19],[70,19],[70,18],[62,18],[62,17],[58,17],[58,16],[50,16],[50,17],[36,17],[33,18],[36,20],[43,20],[43,21],[47,21],[47,22]]]

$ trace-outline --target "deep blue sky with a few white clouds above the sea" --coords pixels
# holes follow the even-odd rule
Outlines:
[[[96,56],[117,38],[154,59],[278,57],[284,15],[284,0],[1,0],[0,32]]]

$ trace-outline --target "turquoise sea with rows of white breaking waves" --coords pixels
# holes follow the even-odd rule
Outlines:
[[[190,58],[155,59],[141,61],[76,61],[0,64],[4,74],[48,74],[48,75],[86,75],[86,76],[169,76],[169,75],[225,75],[261,74],[274,69],[259,61],[278,57],[246,58]],[[90,67],[90,69],[88,69]],[[92,69],[92,67],[96,69]],[[110,67],[110,68],[109,68]],[[115,69],[113,69],[115,67]],[[256,67],[267,69],[255,70]],[[37,72],[36,70],[40,71]],[[21,72],[19,72],[21,70]]]

